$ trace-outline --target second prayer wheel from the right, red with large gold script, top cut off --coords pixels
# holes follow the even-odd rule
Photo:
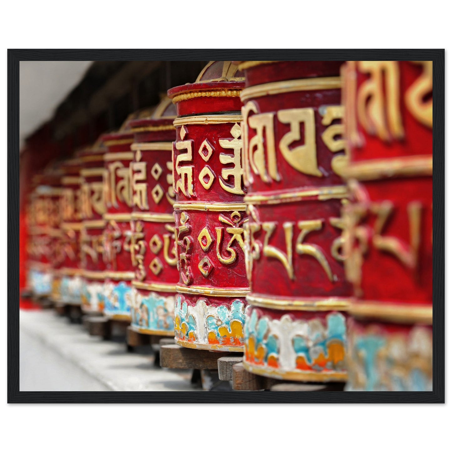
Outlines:
[[[244,367],[267,377],[347,379],[341,63],[239,64],[250,217]]]

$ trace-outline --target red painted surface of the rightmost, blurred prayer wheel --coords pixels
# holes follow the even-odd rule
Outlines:
[[[350,149],[351,163],[353,169],[356,164],[367,162],[372,165],[374,160],[385,160],[386,165],[392,164],[394,159],[403,157],[405,159],[423,156],[426,159],[432,156],[432,128],[421,123],[415,118],[408,108],[407,96],[416,83],[425,79],[422,66],[410,61],[385,62],[395,63],[393,69],[398,72],[395,77],[395,88],[399,94],[392,98],[388,88],[389,72],[382,73],[381,80],[384,86],[384,94],[381,100],[381,115],[383,128],[388,132],[386,139],[378,136],[378,129],[374,125],[375,118],[372,117],[370,102],[375,102],[374,95],[367,100],[365,110],[368,126],[359,117],[358,109],[361,103],[360,96],[371,82],[370,73],[361,68],[361,62],[349,62],[346,71],[346,89],[350,98],[347,108],[347,139]],[[356,94],[353,96],[353,81],[356,80]],[[430,79],[431,83],[431,79]],[[423,106],[431,101],[431,90],[428,91],[428,78],[421,85],[419,103]],[[422,95],[424,94],[424,95]],[[400,112],[399,137],[391,131],[388,108],[391,100]],[[429,100],[430,99],[430,100]],[[361,103],[362,104],[362,103]],[[378,112],[376,108],[374,110]],[[356,114],[353,114],[356,113]],[[378,116],[380,117],[380,116]],[[353,140],[353,127],[356,124],[356,135],[359,140]],[[360,141],[360,142],[358,142]],[[410,161],[410,160],[406,160]],[[356,287],[355,294],[358,298],[370,301],[400,302],[415,304],[431,304],[432,302],[432,241],[433,241],[433,198],[432,177],[419,174],[409,174],[404,177],[395,176],[391,178],[378,177],[377,180],[362,180],[354,189],[355,202],[350,207],[353,212],[360,210],[361,219],[352,232],[353,250],[359,250],[356,232],[365,231],[364,243],[366,252],[363,254],[362,283]],[[377,216],[378,209],[382,205],[391,205],[390,215],[384,221],[383,229],[378,234]],[[409,210],[410,206],[419,204],[419,245],[414,245],[414,232],[410,230]],[[412,225],[417,224],[412,221]],[[358,228],[358,229],[357,229]],[[379,236],[384,240],[390,240],[400,248],[400,253],[395,254],[388,250],[376,247]],[[418,248],[415,251],[414,248]],[[416,263],[407,264],[402,256],[411,256]],[[414,261],[413,261],[414,262]]]

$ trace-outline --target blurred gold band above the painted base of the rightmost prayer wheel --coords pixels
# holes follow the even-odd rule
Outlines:
[[[394,323],[432,325],[433,307],[416,305],[391,305],[375,301],[354,302],[350,315],[358,319],[377,318]]]

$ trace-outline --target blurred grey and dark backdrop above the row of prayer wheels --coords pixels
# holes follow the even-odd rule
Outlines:
[[[173,86],[192,83],[207,61],[21,61],[20,289],[26,283],[25,212],[33,176],[54,160],[117,130],[156,105]],[[26,307],[27,301],[21,300]]]

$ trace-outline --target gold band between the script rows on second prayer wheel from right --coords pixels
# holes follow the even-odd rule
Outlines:
[[[347,186],[336,185],[332,187],[307,188],[285,193],[274,192],[271,195],[252,193],[245,195],[245,202],[247,204],[279,204],[280,202],[296,202],[301,201],[303,198],[313,197],[319,201],[348,198]]]

